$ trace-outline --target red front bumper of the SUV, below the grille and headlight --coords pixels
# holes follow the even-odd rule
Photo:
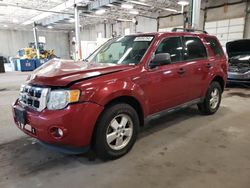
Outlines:
[[[63,110],[55,111],[45,109],[37,112],[26,107],[27,124],[34,129],[30,132],[17,122],[14,113],[17,107],[22,107],[18,100],[12,105],[13,117],[17,127],[24,133],[47,144],[74,148],[90,145],[96,121],[103,110],[103,106],[90,102],[71,104]],[[54,137],[50,132],[52,127],[61,128],[64,136]]]

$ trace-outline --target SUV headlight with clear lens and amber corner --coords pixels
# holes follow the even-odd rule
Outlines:
[[[80,97],[79,90],[55,90],[49,94],[47,108],[49,110],[60,110],[69,103],[78,102]]]

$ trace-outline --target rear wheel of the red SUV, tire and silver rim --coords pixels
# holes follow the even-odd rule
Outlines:
[[[220,84],[215,81],[212,82],[208,87],[204,101],[198,104],[198,109],[201,114],[212,115],[217,112],[221,103],[221,95],[222,89]]]

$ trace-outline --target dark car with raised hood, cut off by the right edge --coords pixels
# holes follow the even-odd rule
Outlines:
[[[250,83],[250,39],[228,42],[228,83]]]

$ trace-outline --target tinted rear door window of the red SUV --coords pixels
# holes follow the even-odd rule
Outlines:
[[[201,40],[197,37],[184,37],[186,52],[185,60],[206,59],[207,51]]]

